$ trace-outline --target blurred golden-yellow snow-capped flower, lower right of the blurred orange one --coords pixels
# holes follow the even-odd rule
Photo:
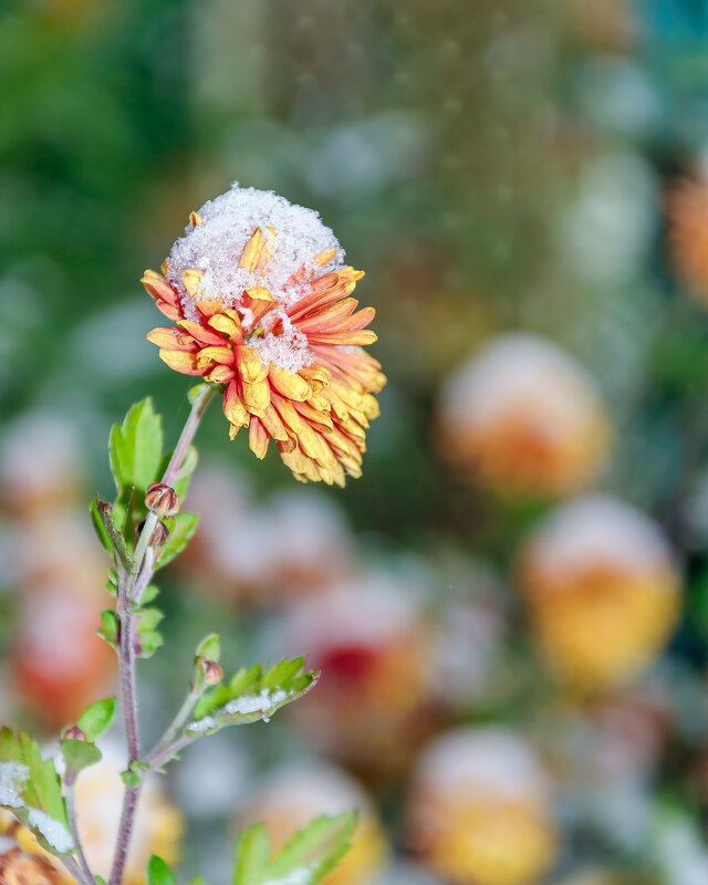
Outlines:
[[[621,501],[587,496],[528,539],[519,582],[558,675],[581,690],[629,681],[660,650],[678,615],[680,575],[659,528]]]

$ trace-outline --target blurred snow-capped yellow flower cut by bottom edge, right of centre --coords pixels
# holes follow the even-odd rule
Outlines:
[[[408,812],[412,847],[456,885],[531,885],[555,855],[545,774],[503,729],[439,737],[418,762]]]

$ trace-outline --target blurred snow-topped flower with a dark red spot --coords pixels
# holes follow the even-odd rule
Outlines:
[[[291,714],[310,743],[369,774],[399,773],[435,708],[435,634],[410,586],[364,573],[298,601],[281,629],[322,670]]]

